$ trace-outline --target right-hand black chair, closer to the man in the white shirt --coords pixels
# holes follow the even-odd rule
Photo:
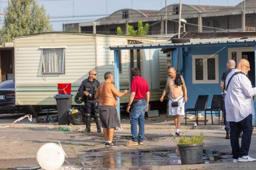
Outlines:
[[[219,114],[219,125],[220,125],[220,115],[221,115],[222,107],[221,107],[221,95],[215,94],[212,97],[211,105],[209,109],[205,109],[204,111],[204,125],[206,125],[206,115],[211,114],[211,125],[214,125],[214,120],[212,118],[212,114]],[[207,113],[210,112],[210,113]],[[221,125],[222,125],[222,116],[221,116]]]

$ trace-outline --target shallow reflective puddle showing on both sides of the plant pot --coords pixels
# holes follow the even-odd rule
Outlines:
[[[112,148],[85,151],[79,155],[83,167],[150,167],[162,165],[180,165],[178,149],[129,150],[119,151]],[[209,155],[207,155],[209,153]],[[232,162],[228,153],[204,150],[203,163]]]

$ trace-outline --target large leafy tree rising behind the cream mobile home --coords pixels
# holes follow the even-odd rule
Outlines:
[[[39,7],[35,0],[10,0],[5,14],[1,42],[10,42],[16,36],[53,30],[44,6]]]

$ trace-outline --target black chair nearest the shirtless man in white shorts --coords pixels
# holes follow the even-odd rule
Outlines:
[[[198,111],[204,111],[206,109],[207,101],[209,95],[198,95],[197,101],[194,108],[186,109],[185,111],[185,125],[187,125],[187,114],[195,114],[196,115],[196,122],[198,125]],[[194,113],[189,113],[194,112]]]

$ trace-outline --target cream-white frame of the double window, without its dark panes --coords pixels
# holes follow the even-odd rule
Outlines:
[[[207,59],[215,58],[215,80],[208,80]],[[196,59],[203,59],[203,80],[196,80]],[[193,84],[216,84],[219,83],[219,56],[218,55],[193,55],[192,56]]]

